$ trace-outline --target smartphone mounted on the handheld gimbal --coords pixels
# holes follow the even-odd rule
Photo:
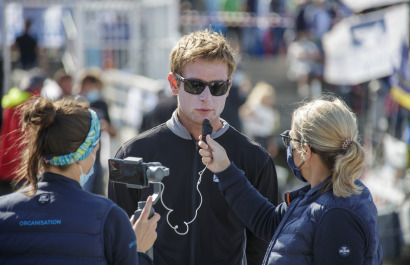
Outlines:
[[[113,182],[148,187],[147,166],[135,161],[108,159],[109,178]]]

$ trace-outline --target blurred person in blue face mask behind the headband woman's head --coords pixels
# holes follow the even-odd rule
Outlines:
[[[105,131],[110,137],[114,137],[117,134],[117,130],[111,124],[108,104],[102,97],[101,92],[103,87],[104,83],[97,71],[85,71],[80,80],[80,95],[90,102],[90,107],[97,113],[101,124],[101,131]],[[109,143],[102,143],[102,145],[104,144]],[[101,165],[101,154],[99,151],[97,152],[96,163],[94,165],[94,174],[84,185],[84,189],[107,196],[107,182],[104,179],[104,170]]]

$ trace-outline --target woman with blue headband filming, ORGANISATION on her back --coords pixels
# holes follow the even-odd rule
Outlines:
[[[87,103],[39,98],[22,107],[21,189],[0,197],[0,264],[151,264],[158,214],[140,218],[82,189],[100,124]],[[138,254],[137,254],[138,251]]]

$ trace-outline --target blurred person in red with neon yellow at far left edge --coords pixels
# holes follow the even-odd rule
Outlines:
[[[45,79],[45,73],[34,68],[22,80],[22,89],[11,88],[1,100],[3,122],[0,132],[0,195],[13,191],[12,183],[20,163],[19,139],[24,131],[19,123],[19,107],[32,98],[40,97]]]

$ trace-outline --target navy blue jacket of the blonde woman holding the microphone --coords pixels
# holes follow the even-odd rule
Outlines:
[[[270,240],[263,264],[382,264],[377,210],[369,190],[347,198],[307,185],[278,207],[233,164],[217,173],[228,204],[256,235]]]

